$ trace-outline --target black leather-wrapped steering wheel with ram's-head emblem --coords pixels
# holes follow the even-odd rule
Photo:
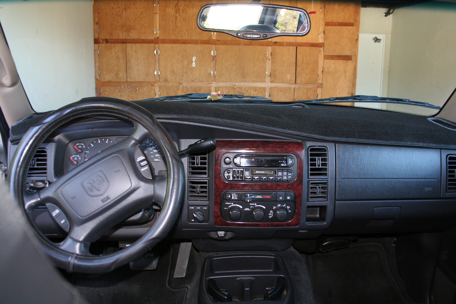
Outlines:
[[[36,149],[62,124],[88,115],[128,119],[133,122],[134,131],[41,191],[27,191],[27,171]],[[137,147],[150,135],[165,157],[167,176],[148,179],[137,165]],[[41,249],[57,267],[69,272],[109,272],[140,257],[170,232],[184,193],[184,167],[169,134],[145,108],[115,98],[84,98],[50,113],[24,135],[9,171],[11,195],[23,206]],[[140,239],[114,253],[89,253],[90,242],[152,202],[161,205],[161,212],[156,213],[152,226]],[[33,221],[33,210],[45,203],[58,206],[67,216],[68,236],[60,243],[49,241]]]

